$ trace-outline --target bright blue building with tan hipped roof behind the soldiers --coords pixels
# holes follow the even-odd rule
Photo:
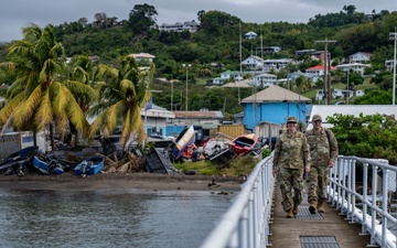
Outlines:
[[[242,100],[243,123],[251,130],[262,121],[281,126],[289,116],[294,116],[299,122],[304,123],[308,104],[311,104],[311,99],[304,96],[280,86],[270,86]]]

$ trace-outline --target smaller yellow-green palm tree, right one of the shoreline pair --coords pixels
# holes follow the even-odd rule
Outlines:
[[[122,57],[119,69],[98,66],[98,75],[104,82],[98,87],[98,104],[90,109],[90,114],[96,116],[90,126],[90,137],[100,131],[104,138],[107,138],[121,126],[120,142],[124,151],[128,149],[131,138],[143,141],[146,132],[141,107],[144,107],[150,98],[148,86],[153,72],[153,64],[149,68],[140,69],[132,56]]]

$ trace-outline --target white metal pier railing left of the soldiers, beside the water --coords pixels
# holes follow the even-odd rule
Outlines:
[[[259,248],[269,246],[269,224],[275,192],[272,153],[256,164],[230,208],[201,248]]]

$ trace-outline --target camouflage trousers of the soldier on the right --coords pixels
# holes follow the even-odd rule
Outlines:
[[[329,168],[328,166],[312,166],[308,175],[309,180],[309,196],[308,202],[311,201],[326,201],[326,185],[329,183]]]

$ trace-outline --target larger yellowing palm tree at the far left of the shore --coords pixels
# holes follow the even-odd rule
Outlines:
[[[64,48],[55,41],[52,25],[41,29],[32,23],[24,28],[23,39],[11,44],[8,58],[0,66],[14,73],[15,80],[7,91],[7,105],[0,110],[3,130],[9,126],[21,129],[26,123],[33,131],[50,127],[53,149],[54,121],[60,137],[69,131],[69,121],[78,131],[87,130],[85,116],[69,89],[84,91],[85,85],[64,78]]]

